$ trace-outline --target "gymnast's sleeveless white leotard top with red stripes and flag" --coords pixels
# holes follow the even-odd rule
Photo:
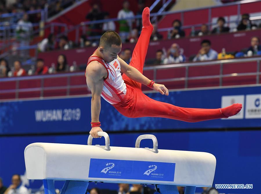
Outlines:
[[[103,97],[110,104],[118,104],[121,102],[126,94],[127,88],[120,73],[120,62],[114,59],[107,63],[98,56],[91,56],[87,65],[92,61],[98,61],[107,70],[108,76],[104,79],[101,97]]]

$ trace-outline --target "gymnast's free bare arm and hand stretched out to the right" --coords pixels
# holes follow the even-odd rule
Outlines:
[[[131,78],[132,80],[134,80],[135,82],[139,82],[141,84],[144,85],[148,85],[150,83],[150,79],[148,79],[147,77],[145,77],[141,72],[139,72],[136,68],[128,65],[123,59],[117,57],[119,62],[120,62],[120,69],[122,73],[125,73],[129,78]],[[154,90],[158,91],[159,93],[161,93],[162,95],[169,95],[169,91],[168,89],[162,85],[162,84],[153,84],[153,88]]]

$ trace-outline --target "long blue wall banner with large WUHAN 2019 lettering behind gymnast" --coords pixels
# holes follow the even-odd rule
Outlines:
[[[173,91],[149,97],[187,108],[220,108],[242,103],[239,114],[228,119],[187,123],[165,118],[127,118],[102,99],[100,121],[104,131],[210,129],[261,127],[261,86]],[[89,132],[91,97],[8,101],[0,103],[1,134]],[[164,125],[162,125],[164,123]]]

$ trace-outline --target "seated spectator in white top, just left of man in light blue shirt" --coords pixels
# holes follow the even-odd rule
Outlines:
[[[163,60],[163,64],[182,63],[186,61],[186,57],[181,54],[179,45],[173,43],[167,52],[167,57]]]

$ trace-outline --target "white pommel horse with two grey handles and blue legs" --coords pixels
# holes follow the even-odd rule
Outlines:
[[[211,187],[216,158],[196,151],[158,149],[154,135],[141,135],[135,147],[60,143],[32,143],[24,150],[28,179],[43,180],[45,194],[54,194],[54,180],[66,180],[61,194],[85,194],[89,182],[155,185],[156,192],[178,194],[177,186],[186,186],[185,194],[196,187]],[[153,148],[140,148],[143,139],[152,139]]]

